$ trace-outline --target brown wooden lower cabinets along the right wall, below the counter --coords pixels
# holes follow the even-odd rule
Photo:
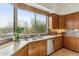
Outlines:
[[[64,37],[64,47],[79,52],[79,37]]]

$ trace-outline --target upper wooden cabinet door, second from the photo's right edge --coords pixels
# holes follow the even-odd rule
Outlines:
[[[66,28],[67,29],[74,29],[74,21],[73,21],[73,14],[66,15]]]

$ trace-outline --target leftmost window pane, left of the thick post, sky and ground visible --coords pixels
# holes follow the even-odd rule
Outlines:
[[[0,38],[7,37],[13,32],[13,6],[0,3]]]

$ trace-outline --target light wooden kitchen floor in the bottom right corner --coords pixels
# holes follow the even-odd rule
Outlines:
[[[58,50],[57,52],[51,54],[50,56],[79,56],[79,53],[74,52],[69,49],[62,48]]]

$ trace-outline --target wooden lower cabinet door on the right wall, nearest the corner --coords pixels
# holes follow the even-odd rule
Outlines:
[[[76,40],[74,37],[65,36],[64,37],[64,47],[72,50],[76,49]]]

